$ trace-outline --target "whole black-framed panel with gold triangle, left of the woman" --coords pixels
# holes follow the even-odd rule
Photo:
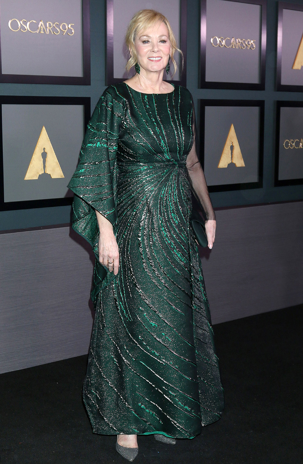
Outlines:
[[[37,101],[34,97],[2,97],[3,100],[2,207],[49,206],[45,200],[55,199],[57,205],[71,202],[68,197],[72,192],[67,184],[77,166],[90,99],[42,97]]]

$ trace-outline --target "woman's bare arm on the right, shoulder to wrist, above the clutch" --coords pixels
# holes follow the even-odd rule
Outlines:
[[[197,137],[196,118],[192,98],[191,124],[193,131],[193,146],[187,155],[186,167],[191,184],[193,207],[197,209],[199,205],[204,210],[205,219],[216,219],[213,205],[209,197],[205,175],[199,159],[199,143]]]

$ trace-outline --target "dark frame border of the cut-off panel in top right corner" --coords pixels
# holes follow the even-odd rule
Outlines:
[[[302,85],[281,84],[282,78],[282,40],[283,40],[283,10],[303,11],[303,5],[297,3],[279,2],[277,26],[277,91],[303,92]]]

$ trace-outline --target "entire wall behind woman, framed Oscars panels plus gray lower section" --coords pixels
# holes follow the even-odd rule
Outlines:
[[[256,220],[253,211],[258,215],[263,211],[271,218],[271,224],[267,230],[266,221],[261,221],[262,234],[267,242],[271,237],[268,243],[276,250],[271,255],[270,268],[277,270],[286,236],[284,240],[282,229],[272,236],[272,225],[285,220],[287,212],[290,222],[292,214],[302,212],[302,202],[297,206],[287,203],[292,206],[286,209],[271,205],[303,200],[302,3],[0,0],[0,265],[4,266],[1,275],[6,276],[5,298],[0,308],[0,344],[7,346],[9,339],[23,353],[28,350],[20,362],[19,348],[10,359],[6,353],[6,359],[0,361],[2,371],[87,352],[92,322],[88,288],[92,263],[84,241],[75,235],[66,236],[72,202],[67,184],[77,166],[85,128],[99,95],[107,85],[115,85],[131,75],[125,71],[128,50],[124,36],[133,14],[143,8],[154,8],[168,17],[183,52],[183,62],[176,56],[177,73],[165,78],[175,85],[187,86],[192,92],[200,162],[214,206],[222,211],[233,206],[252,208],[248,215],[241,208],[231,210],[234,223],[230,233],[237,228],[236,236],[242,245],[257,250],[261,238],[255,231],[251,239],[247,218]],[[267,206],[257,206],[264,204]],[[284,218],[280,217],[282,210]],[[223,234],[230,225],[228,214],[218,211],[218,217],[225,221],[223,226],[218,224],[218,231],[221,229]],[[58,228],[59,224],[66,227]],[[50,232],[45,232],[45,226],[51,226]],[[20,230],[24,232],[17,232]],[[286,235],[287,228],[284,232]],[[22,239],[18,239],[20,234],[24,234]],[[230,249],[233,237],[224,234],[222,237],[220,250],[224,254]],[[301,246],[299,237],[297,231],[292,243],[297,249]],[[64,249],[60,243],[65,244]],[[59,271],[62,266],[58,268],[58,249],[59,256],[64,257],[64,278]],[[233,245],[233,258],[237,257],[238,264],[243,262],[243,247],[239,249],[242,254],[240,251],[237,254]],[[37,263],[42,254],[41,262],[47,272],[41,279],[43,271]],[[49,265],[52,256],[57,257],[56,264]],[[219,258],[213,261],[210,258],[211,254],[202,260],[206,274],[209,269],[209,275],[213,276],[221,268]],[[79,259],[84,273],[80,283],[79,275],[73,275]],[[299,263],[287,267],[286,255],[283,259],[281,273],[275,274],[274,279],[280,289],[284,288],[283,278],[287,287],[302,275]],[[216,263],[213,269],[212,262]],[[222,255],[225,271],[221,271],[225,276],[230,262],[228,253]],[[245,286],[247,294],[249,291],[258,294],[255,276],[260,264],[261,261],[254,261],[249,268],[247,262],[246,277],[241,272],[235,281],[239,288]],[[269,279],[267,287],[274,281]],[[56,287],[60,289],[57,293]],[[13,290],[18,288],[26,293],[26,309],[18,291],[16,296]],[[76,299],[68,288],[74,289]],[[263,288],[263,295],[264,291]],[[226,295],[224,305],[222,296],[217,301],[215,292],[210,293],[215,322],[266,310],[267,303],[262,303],[261,294],[258,302],[251,306],[245,303],[244,309],[240,299],[237,303]],[[284,296],[290,297],[280,298],[281,304],[302,302],[302,291],[294,298],[290,294],[287,287]],[[273,301],[270,295],[269,291],[267,302]],[[38,327],[41,330],[43,325],[39,311],[44,306],[48,315],[44,336],[37,338]],[[278,306],[277,301],[267,308],[278,309]],[[79,337],[81,324],[85,329]],[[56,331],[59,325],[60,330]],[[32,345],[28,333],[35,339]],[[58,340],[67,337],[65,348],[64,343],[58,344],[57,335]]]

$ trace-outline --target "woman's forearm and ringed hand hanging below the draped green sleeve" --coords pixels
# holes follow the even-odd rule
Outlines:
[[[113,231],[113,226],[108,219],[96,211],[99,226],[99,261],[107,267],[115,276],[119,270],[119,247]]]

